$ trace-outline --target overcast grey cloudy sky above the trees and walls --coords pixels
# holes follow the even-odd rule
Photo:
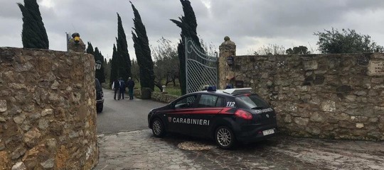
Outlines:
[[[169,19],[183,16],[179,0],[131,0],[142,16],[149,44],[164,37],[176,43],[181,29]],[[0,0],[0,47],[23,47],[22,15],[17,2]],[[38,0],[50,50],[66,50],[65,33],[80,33],[86,43],[112,57],[117,37],[117,13],[134,58],[134,18],[129,0]],[[384,45],[383,0],[191,0],[197,33],[217,49],[228,35],[236,55],[250,55],[260,47],[304,45],[316,50],[317,32],[350,28]]]

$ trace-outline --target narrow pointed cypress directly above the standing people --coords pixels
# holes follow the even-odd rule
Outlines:
[[[122,18],[117,13],[117,57],[118,72],[117,75],[122,77],[124,81],[131,76],[131,59],[129,58],[127,38],[122,27]]]

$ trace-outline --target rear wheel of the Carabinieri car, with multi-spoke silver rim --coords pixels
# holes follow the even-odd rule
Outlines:
[[[227,126],[220,126],[215,130],[215,141],[223,149],[232,149],[236,143],[235,134]]]

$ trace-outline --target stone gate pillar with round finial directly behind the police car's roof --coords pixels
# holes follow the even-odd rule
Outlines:
[[[235,42],[231,41],[228,36],[225,36],[224,42],[221,43],[221,45],[219,46],[219,58],[218,58],[219,87],[218,89],[225,89],[225,86],[227,86],[228,83],[234,82],[235,73],[233,72],[232,67],[235,67],[234,66],[235,64],[233,64],[232,66],[229,66],[227,64],[227,59],[230,56],[235,57],[235,55],[236,55]]]

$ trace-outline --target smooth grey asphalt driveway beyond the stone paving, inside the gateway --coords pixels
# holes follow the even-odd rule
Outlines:
[[[98,134],[148,129],[149,110],[166,104],[139,98],[130,101],[127,96],[124,100],[114,100],[112,90],[103,89],[103,92],[104,109],[97,113]]]

